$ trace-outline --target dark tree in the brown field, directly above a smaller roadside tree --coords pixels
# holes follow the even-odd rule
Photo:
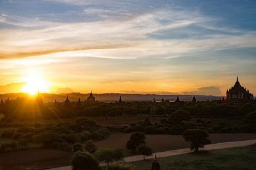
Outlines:
[[[135,132],[130,135],[130,140],[126,143],[126,148],[135,151],[137,146],[146,143],[146,137],[143,132]]]

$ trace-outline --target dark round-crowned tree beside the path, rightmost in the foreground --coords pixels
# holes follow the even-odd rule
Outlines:
[[[191,142],[190,149],[195,152],[198,152],[199,148],[204,148],[205,144],[211,143],[211,141],[208,140],[208,132],[202,129],[188,129],[183,133],[183,137],[186,141]]]

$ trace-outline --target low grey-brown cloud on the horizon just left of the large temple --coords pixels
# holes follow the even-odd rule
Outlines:
[[[219,87],[201,87],[197,90],[191,91],[191,92],[182,92],[182,94],[185,95],[215,95],[220,96],[221,95],[221,89]]]

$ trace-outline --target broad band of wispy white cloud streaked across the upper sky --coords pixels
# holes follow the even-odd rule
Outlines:
[[[85,11],[109,12],[95,8]],[[16,24],[20,18],[13,21],[13,17],[9,17],[12,19],[8,22]],[[212,20],[196,11],[174,9],[158,9],[123,20],[112,18],[93,22],[43,22],[32,19],[30,22],[35,23],[27,24],[27,20],[21,19],[18,24],[31,27],[43,24],[43,27],[29,30],[22,27],[1,29],[0,57],[18,58],[70,52],[71,57],[79,53],[79,57],[114,59],[151,56],[172,58],[191,53],[196,55],[219,49],[256,46],[255,31],[244,32],[229,27],[220,29],[211,24]],[[191,30],[192,26],[201,29]],[[202,29],[204,32],[201,32]]]

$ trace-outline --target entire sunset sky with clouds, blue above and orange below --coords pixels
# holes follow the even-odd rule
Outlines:
[[[256,1],[0,0],[0,93],[256,94]]]

